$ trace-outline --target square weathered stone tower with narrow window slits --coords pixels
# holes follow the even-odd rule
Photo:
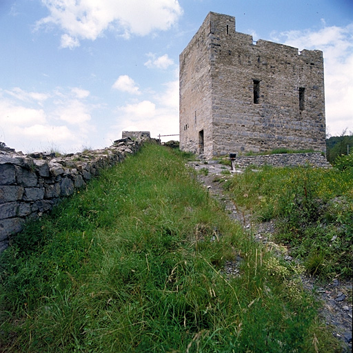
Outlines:
[[[325,152],[323,54],[235,31],[210,12],[180,55],[181,150],[206,158],[275,148]]]

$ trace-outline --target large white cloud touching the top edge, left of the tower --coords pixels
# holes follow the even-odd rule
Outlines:
[[[125,38],[145,36],[155,30],[168,30],[183,13],[178,0],[42,0],[48,17],[36,28],[52,24],[63,32],[62,48],[79,46],[79,40],[94,41],[105,30],[116,30]]]

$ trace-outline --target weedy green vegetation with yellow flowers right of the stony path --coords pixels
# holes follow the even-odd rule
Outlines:
[[[236,203],[262,221],[275,219],[276,240],[290,247],[307,272],[325,280],[352,276],[352,155],[339,165],[249,169],[228,181]]]

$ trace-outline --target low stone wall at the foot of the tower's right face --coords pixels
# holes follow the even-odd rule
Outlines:
[[[266,154],[264,156],[236,157],[232,161],[234,168],[246,168],[251,165],[272,165],[275,167],[296,167],[298,165],[311,165],[318,168],[331,168],[330,163],[320,152]]]

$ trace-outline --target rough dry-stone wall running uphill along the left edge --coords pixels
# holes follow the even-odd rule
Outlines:
[[[21,232],[28,219],[49,212],[63,197],[96,177],[100,169],[121,163],[126,155],[137,152],[142,143],[142,139],[125,138],[103,150],[63,157],[1,148],[0,252],[8,247],[10,236]]]

